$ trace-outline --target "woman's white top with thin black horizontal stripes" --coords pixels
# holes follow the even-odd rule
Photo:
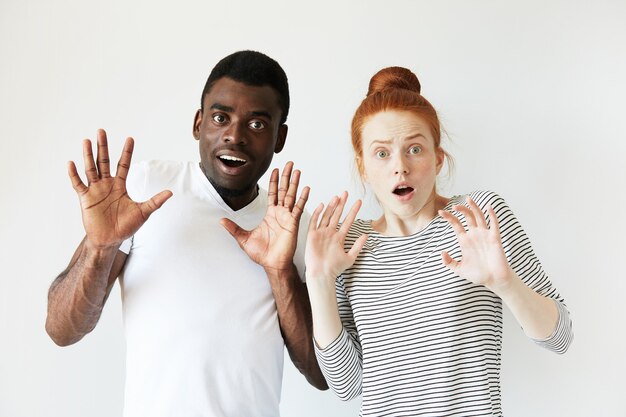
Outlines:
[[[470,196],[484,213],[494,208],[513,270],[558,306],[554,333],[535,342],[565,352],[569,313],[522,227],[495,193]],[[466,205],[466,196],[445,210],[455,204]],[[461,257],[448,222],[437,216],[414,235],[390,237],[357,220],[346,250],[363,233],[364,248],[336,282],[343,330],[325,349],[316,346],[333,391],[343,400],[361,394],[361,416],[501,416],[502,300],[443,265],[444,250]]]

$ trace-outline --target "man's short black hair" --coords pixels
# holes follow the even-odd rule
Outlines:
[[[289,113],[289,84],[287,74],[280,64],[269,56],[257,51],[238,51],[218,62],[202,90],[200,108],[204,109],[204,97],[211,91],[213,84],[223,77],[255,87],[269,86],[278,94],[278,105],[282,115],[280,124],[287,121]]]

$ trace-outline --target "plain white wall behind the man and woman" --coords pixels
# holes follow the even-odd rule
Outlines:
[[[532,345],[507,312],[506,415],[625,416],[626,3],[309,3],[0,1],[0,416],[120,415],[119,288],[77,345],[44,332],[48,286],[82,237],[65,164],[82,164],[81,139],[99,127],[113,154],[132,135],[136,159],[196,160],[205,79],[239,49],[287,71],[289,138],[274,165],[296,162],[311,207],[359,189],[349,122],[370,76],[413,69],[457,162],[442,191],[502,194],[572,311],[565,356]],[[287,368],[284,416],[358,406]]]

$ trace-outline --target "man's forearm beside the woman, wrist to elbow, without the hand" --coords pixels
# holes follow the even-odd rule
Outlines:
[[[320,390],[328,389],[313,348],[313,321],[306,285],[293,264],[289,270],[266,268],[265,271],[291,361],[311,385]]]

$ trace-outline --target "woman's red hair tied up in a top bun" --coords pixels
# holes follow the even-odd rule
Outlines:
[[[403,67],[387,67],[370,80],[367,96],[352,118],[352,147],[359,173],[363,176],[363,127],[373,115],[390,110],[408,111],[422,118],[435,139],[435,149],[441,148],[441,126],[435,108],[421,94],[417,76]],[[448,157],[448,154],[444,155]]]

